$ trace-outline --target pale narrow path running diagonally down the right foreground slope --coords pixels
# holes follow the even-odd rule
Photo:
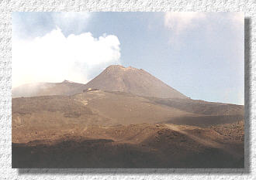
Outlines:
[[[206,139],[200,138],[198,136],[195,136],[194,134],[189,134],[187,131],[184,131],[182,129],[182,127],[179,127],[179,126],[177,126],[175,124],[165,124],[165,125],[168,128],[170,128],[172,131],[177,131],[177,132],[179,132],[181,134],[184,134],[187,137],[191,138],[192,140],[199,142],[200,144],[206,145],[206,146],[211,147],[211,148],[222,149],[223,151],[226,151],[227,153],[229,153],[230,155],[233,155],[236,158],[238,158],[240,156],[233,149],[227,148],[223,144],[220,144],[220,143],[218,143],[216,141],[206,140]]]

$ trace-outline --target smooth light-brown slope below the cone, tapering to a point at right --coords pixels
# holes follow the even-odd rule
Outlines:
[[[131,93],[95,90],[73,96],[12,98],[12,120],[31,124],[140,124],[197,116],[184,110],[154,104]]]

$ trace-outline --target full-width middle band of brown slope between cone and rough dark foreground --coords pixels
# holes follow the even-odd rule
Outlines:
[[[204,103],[197,100],[161,98],[151,100],[131,93],[94,90],[73,96],[12,98],[12,123],[19,127],[36,124],[187,124],[207,127],[244,119],[244,107],[234,104]],[[171,102],[175,102],[171,104]],[[184,108],[182,104],[189,104]],[[190,108],[189,108],[190,107]],[[208,109],[212,109],[209,111]],[[202,112],[202,113],[199,113]]]

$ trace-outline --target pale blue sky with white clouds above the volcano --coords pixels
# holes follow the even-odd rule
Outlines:
[[[142,68],[192,99],[244,104],[238,12],[14,12],[12,87]]]

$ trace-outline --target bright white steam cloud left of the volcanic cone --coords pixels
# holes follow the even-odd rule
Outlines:
[[[65,37],[58,28],[32,40],[13,39],[12,87],[63,80],[87,83],[95,67],[119,64],[119,45],[113,35],[94,38],[86,32]]]

